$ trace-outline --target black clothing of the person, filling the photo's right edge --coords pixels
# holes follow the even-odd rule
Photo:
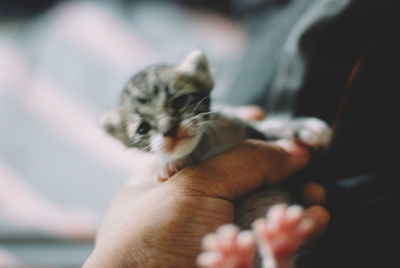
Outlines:
[[[351,1],[299,38],[304,76],[294,114],[338,123],[314,173],[328,189],[331,222],[301,267],[398,266],[393,247],[400,238],[397,2]]]

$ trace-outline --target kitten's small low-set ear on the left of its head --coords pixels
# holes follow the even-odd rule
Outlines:
[[[99,119],[100,126],[111,136],[126,144],[126,134],[118,109],[111,110]]]

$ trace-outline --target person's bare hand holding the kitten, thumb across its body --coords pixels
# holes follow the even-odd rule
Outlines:
[[[117,194],[83,267],[195,267],[202,237],[233,221],[233,200],[284,180],[309,158],[295,141],[247,140],[155,187],[133,183],[151,178],[139,173]],[[314,234],[322,232],[327,212],[314,206],[306,213]]]

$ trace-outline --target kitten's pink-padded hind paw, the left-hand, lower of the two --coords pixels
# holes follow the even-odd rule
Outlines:
[[[205,252],[197,257],[204,268],[251,268],[255,239],[250,231],[241,231],[232,224],[224,225],[203,238]]]

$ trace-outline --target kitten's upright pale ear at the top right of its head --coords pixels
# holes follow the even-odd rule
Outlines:
[[[203,51],[193,50],[176,66],[178,73],[192,76],[211,91],[214,83]]]

